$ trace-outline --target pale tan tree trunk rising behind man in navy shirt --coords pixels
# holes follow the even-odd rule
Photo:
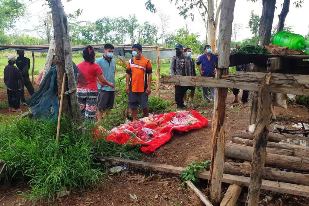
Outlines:
[[[208,44],[210,44],[213,53],[216,53],[216,30],[217,25],[215,22],[215,15],[214,15],[214,0],[208,1],[208,28],[207,28],[207,36],[208,36]],[[218,50],[219,52],[219,50]]]

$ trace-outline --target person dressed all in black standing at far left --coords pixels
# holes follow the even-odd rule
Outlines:
[[[16,66],[22,73],[22,85],[21,85],[21,91],[20,91],[20,101],[22,103],[26,103],[25,99],[25,89],[24,86],[26,86],[28,92],[30,95],[33,95],[34,93],[34,87],[30,81],[29,77],[29,69],[30,69],[30,59],[27,57],[24,57],[25,52],[23,50],[17,50],[18,57],[16,59]]]

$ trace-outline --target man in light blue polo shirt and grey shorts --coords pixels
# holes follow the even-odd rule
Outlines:
[[[115,85],[116,61],[112,58],[114,55],[114,46],[112,44],[104,45],[104,55],[95,61],[100,65],[103,75],[108,82]],[[108,115],[108,110],[112,109],[115,102],[115,87],[108,85],[101,86],[98,83],[98,111],[97,123],[102,119],[103,112]]]

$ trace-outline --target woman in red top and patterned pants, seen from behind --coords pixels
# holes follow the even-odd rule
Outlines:
[[[80,62],[77,67],[81,70],[87,80],[86,86],[77,86],[77,98],[82,113],[83,120],[95,120],[97,112],[98,86],[97,79],[103,85],[114,88],[114,84],[108,82],[101,67],[95,64],[95,50],[92,46],[87,46],[83,50],[85,61]]]

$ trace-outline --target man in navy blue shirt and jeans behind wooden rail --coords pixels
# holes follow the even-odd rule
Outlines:
[[[211,46],[209,44],[204,47],[204,54],[202,54],[196,61],[197,68],[200,71],[202,77],[215,77],[217,72],[218,57],[211,53]],[[202,68],[201,65],[202,64]],[[214,88],[210,88],[211,96],[214,99]],[[210,101],[210,96],[208,94],[208,87],[203,87],[204,97]]]

